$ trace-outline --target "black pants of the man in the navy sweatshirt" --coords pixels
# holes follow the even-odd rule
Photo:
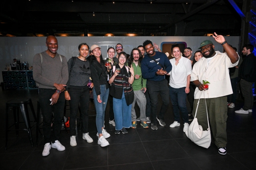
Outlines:
[[[158,118],[164,119],[164,114],[168,109],[168,105],[170,103],[169,88],[168,88],[167,80],[166,79],[161,81],[148,80],[148,94],[150,96],[150,102],[151,102],[152,123],[156,123],[158,94],[160,94],[163,101],[160,113],[158,114]]]

